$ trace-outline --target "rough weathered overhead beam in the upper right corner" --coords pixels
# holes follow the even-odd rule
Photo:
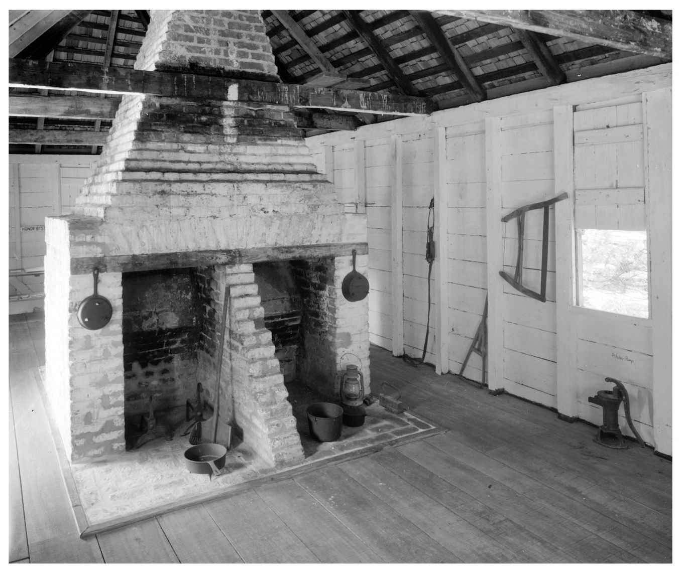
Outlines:
[[[572,37],[588,44],[609,46],[636,54],[673,58],[673,24],[631,10],[437,10],[458,16]]]

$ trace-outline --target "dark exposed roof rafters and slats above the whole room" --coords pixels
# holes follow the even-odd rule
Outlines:
[[[201,97],[236,85],[241,98],[290,105],[308,135],[353,130],[664,63],[670,14],[264,10],[283,83],[195,84]],[[133,69],[149,22],[146,10],[10,10],[10,152],[100,152],[120,94],[176,94],[184,74]]]

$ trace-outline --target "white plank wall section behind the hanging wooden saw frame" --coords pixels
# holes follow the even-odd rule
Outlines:
[[[551,111],[500,120],[502,215],[555,195],[553,130]],[[519,245],[517,221],[496,223],[503,225],[503,270],[514,275]],[[505,281],[502,300],[504,388],[511,394],[553,407],[557,376],[554,241],[555,218],[551,207],[546,302],[525,296]],[[523,243],[522,283],[539,292],[543,209],[526,213]]]

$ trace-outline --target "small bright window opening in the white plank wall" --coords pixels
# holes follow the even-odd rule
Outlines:
[[[579,229],[577,247],[577,305],[647,319],[647,232]]]

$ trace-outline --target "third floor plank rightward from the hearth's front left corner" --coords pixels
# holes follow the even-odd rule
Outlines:
[[[319,562],[254,490],[204,505],[245,563]]]

